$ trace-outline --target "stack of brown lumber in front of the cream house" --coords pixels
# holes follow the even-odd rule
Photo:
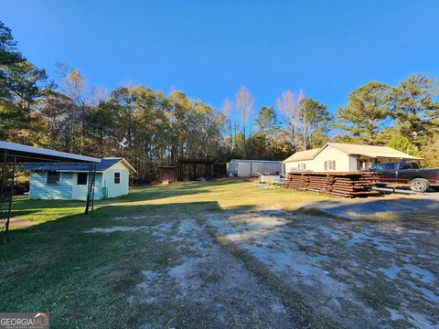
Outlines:
[[[300,191],[323,193],[328,196],[360,197],[378,194],[372,186],[378,184],[378,175],[370,172],[288,174],[288,187]]]

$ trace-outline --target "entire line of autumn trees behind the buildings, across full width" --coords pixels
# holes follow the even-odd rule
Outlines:
[[[90,86],[78,69],[57,64],[57,81],[30,63],[0,22],[0,139],[92,156],[125,157],[139,178],[179,158],[284,160],[327,141],[390,145],[439,165],[439,87],[412,75],[398,86],[369,82],[332,115],[327,105],[283,91],[254,108],[242,86],[219,111],[181,90],[166,95],[142,85]]]

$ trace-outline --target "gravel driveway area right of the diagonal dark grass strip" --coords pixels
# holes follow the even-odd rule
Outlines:
[[[439,327],[439,221],[344,220],[276,209],[206,218],[337,324]]]

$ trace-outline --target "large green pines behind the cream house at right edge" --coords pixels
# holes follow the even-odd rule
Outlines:
[[[415,74],[391,87],[373,81],[350,92],[348,103],[337,109],[337,140],[389,145],[420,155],[424,164],[439,166],[439,84]]]

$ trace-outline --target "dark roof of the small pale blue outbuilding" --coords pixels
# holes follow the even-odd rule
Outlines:
[[[110,168],[113,164],[120,162],[122,158],[103,158],[101,163],[96,164],[96,171],[103,172]],[[64,171],[64,172],[81,172],[89,171],[89,164],[76,164],[76,163],[32,163],[20,165],[21,170],[31,171]]]

